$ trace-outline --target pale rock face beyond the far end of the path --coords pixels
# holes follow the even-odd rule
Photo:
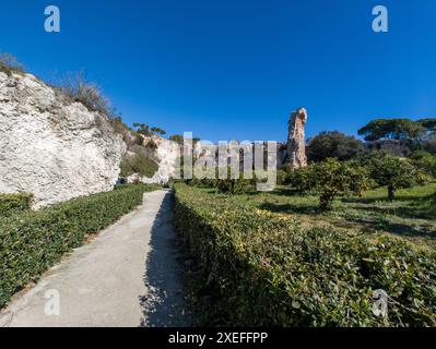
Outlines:
[[[146,145],[149,142],[153,142],[156,145],[153,158],[158,165],[158,170],[152,178],[142,177],[138,173],[131,174],[127,178],[128,183],[139,181],[145,184],[166,184],[175,176],[180,146],[176,142],[160,136],[144,137],[143,144]]]

